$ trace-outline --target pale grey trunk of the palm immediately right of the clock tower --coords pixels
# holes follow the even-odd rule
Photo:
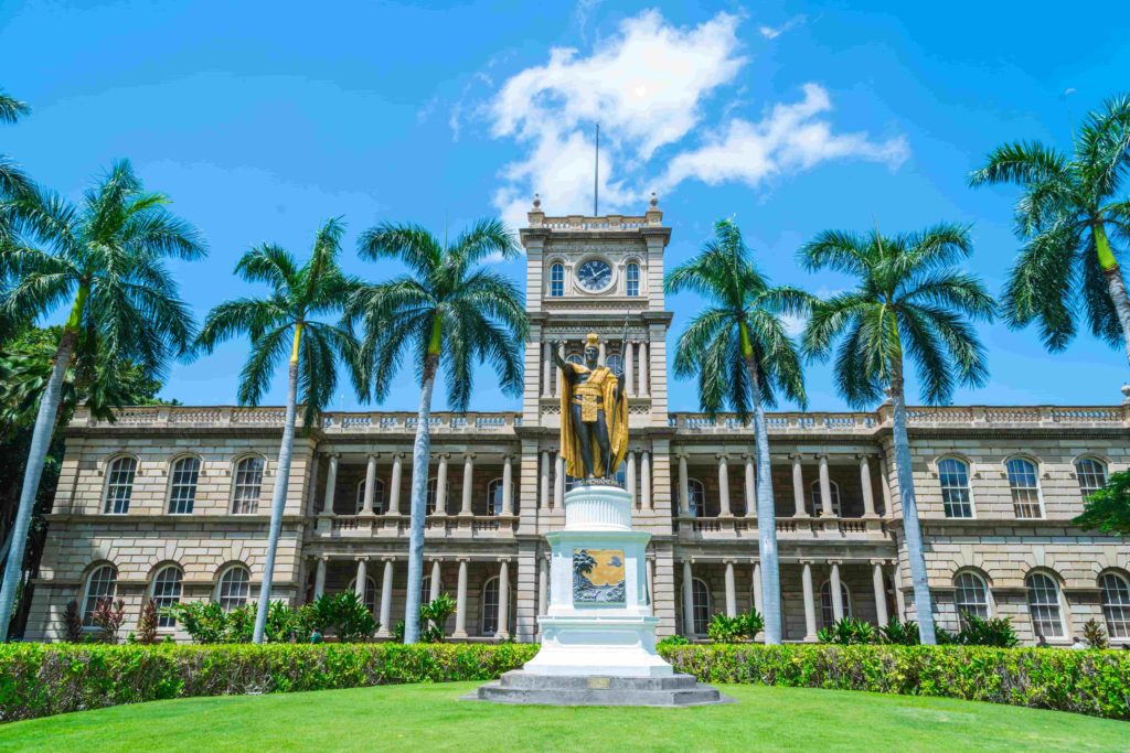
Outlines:
[[[757,366],[746,358],[754,402],[754,444],[757,455],[757,537],[762,560],[762,610],[765,614],[765,642],[781,642],[781,562],[776,546],[776,508],[773,502],[773,473],[770,469],[770,437],[762,405],[762,384]]]

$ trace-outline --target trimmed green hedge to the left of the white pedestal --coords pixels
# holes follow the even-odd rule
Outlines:
[[[530,643],[0,645],[0,723],[197,695],[494,680]]]

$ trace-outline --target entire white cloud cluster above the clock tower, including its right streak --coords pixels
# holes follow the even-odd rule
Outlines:
[[[582,18],[593,3],[577,7]],[[802,16],[763,36],[779,36]],[[803,98],[776,104],[759,121],[745,120],[738,80],[748,59],[738,41],[740,18],[719,14],[693,27],[669,24],[657,10],[620,21],[589,54],[550,50],[545,64],[506,78],[478,110],[495,138],[523,148],[503,167],[495,207],[511,226],[525,224],[533,194],[555,214],[592,208],[593,125],[600,123],[600,209],[641,209],[647,193],[687,180],[758,185],[820,163],[855,158],[892,168],[909,156],[905,139],[840,133],[827,117],[828,93],[806,85]],[[707,120],[707,100],[728,90]],[[458,135],[460,113],[453,113]],[[660,157],[659,152],[662,151]],[[663,165],[655,163],[663,160]],[[658,178],[657,178],[658,176]]]

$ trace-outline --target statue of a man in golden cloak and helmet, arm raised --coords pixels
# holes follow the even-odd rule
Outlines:
[[[550,345],[562,373],[558,392],[565,473],[574,479],[611,479],[628,448],[628,403],[620,391],[624,375],[598,366],[596,333],[589,333],[583,366],[563,360],[557,343]]]

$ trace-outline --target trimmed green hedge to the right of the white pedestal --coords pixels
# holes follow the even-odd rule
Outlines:
[[[1130,719],[1130,651],[968,646],[672,646],[702,682],[938,695]]]

